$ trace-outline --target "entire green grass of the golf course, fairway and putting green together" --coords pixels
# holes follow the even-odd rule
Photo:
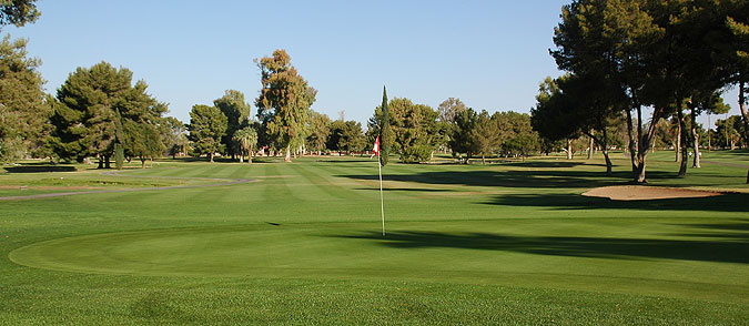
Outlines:
[[[656,153],[650,185],[731,193],[583,196],[628,184],[620,154],[391,163],[386,236],[374,160],[11,170],[2,196],[178,187],[0,201],[0,325],[746,324],[749,160],[704,159],[729,164]]]

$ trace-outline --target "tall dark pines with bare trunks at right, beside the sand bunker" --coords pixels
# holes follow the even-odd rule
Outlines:
[[[573,1],[550,51],[569,73],[541,86],[532,112],[536,130],[553,140],[585,133],[607,150],[607,130],[624,116],[634,180],[646,182],[659,122],[675,116],[685,175],[688,147],[699,166],[697,116],[726,110],[721,90],[738,85],[748,123],[748,16],[743,0]]]

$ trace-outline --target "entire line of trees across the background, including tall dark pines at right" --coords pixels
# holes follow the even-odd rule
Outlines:
[[[3,7],[0,27],[33,22],[33,0]],[[13,10],[6,10],[8,7]],[[699,166],[699,150],[747,143],[746,1],[573,1],[555,29],[550,54],[567,74],[547,78],[530,114],[467,108],[449,98],[436,109],[406,98],[389,99],[374,109],[366,131],[343,116],[332,120],[311,110],[317,91],[291,64],[284,50],[255,60],[261,91],[252,104],[227,90],[212,105],[195,104],[190,122],[164,116],[168,104],[148,93],[132,72],[100,62],[71,72],[54,95],[43,91],[41,64],[29,58],[26,40],[4,37],[0,44],[0,159],[55,157],[83,162],[114,161],[164,154],[216,153],[242,162],[255,152],[282,154],[285,161],[304,153],[354,153],[382,140],[402,162],[432,160],[452,153],[459,162],[487,156],[525,157],[566,152],[568,157],[599,149],[611,173],[609,150],[624,149],[632,177],[645,182],[646,157],[657,146],[672,146],[686,174],[688,152]],[[739,88],[741,116],[718,120],[705,131],[697,116],[719,114],[729,105],[719,96]],[[651,115],[644,111],[651,108]]]

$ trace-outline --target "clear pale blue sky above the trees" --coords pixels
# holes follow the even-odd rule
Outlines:
[[[364,123],[383,85],[435,109],[459,98],[528,112],[538,83],[560,74],[548,49],[566,2],[39,0],[36,23],[3,33],[29,39],[50,93],[103,60],[145,80],[183,122],[229,89],[253,103],[253,59],[285,49],[318,91],[313,110]],[[736,95],[726,100],[736,106]]]

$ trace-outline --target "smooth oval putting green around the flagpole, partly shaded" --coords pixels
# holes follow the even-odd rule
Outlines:
[[[375,223],[267,223],[65,237],[18,248],[9,257],[37,268],[95,274],[385,277],[746,299],[741,282],[749,274],[742,262],[678,256],[690,243],[631,238],[627,228],[609,227],[618,237],[580,236],[604,224],[611,221],[397,223],[382,237]],[[652,223],[656,233],[669,227]],[[641,256],[645,248],[659,253]]]

